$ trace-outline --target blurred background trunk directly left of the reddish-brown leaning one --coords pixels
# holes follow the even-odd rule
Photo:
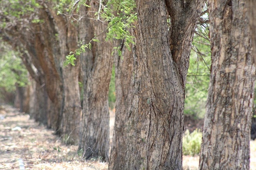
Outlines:
[[[30,45],[26,44],[26,46],[29,47]],[[39,64],[36,53],[33,52],[35,49],[33,48],[32,51],[27,50],[28,53],[26,53],[26,51],[24,51],[24,48],[17,48],[20,53],[22,53],[22,55],[20,56],[22,59],[22,63],[26,66],[30,74],[30,85],[28,86],[29,115],[32,119],[35,119],[35,121],[43,123],[44,125],[50,125],[50,122],[48,123],[48,120],[54,109],[50,107],[53,106],[53,104],[50,101],[50,98],[48,97],[46,91],[44,72],[42,71],[42,68]]]

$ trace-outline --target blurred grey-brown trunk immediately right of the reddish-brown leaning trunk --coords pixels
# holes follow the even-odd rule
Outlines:
[[[69,55],[70,51],[74,52],[77,49],[78,27],[66,16],[57,15],[56,11],[52,11],[51,14],[58,26],[60,56],[56,56],[58,59],[56,65],[60,68],[63,84],[63,112],[60,113],[60,131],[61,135],[65,135],[66,143],[78,144],[82,114],[78,84],[80,60],[75,61],[75,66],[63,67],[65,57]]]

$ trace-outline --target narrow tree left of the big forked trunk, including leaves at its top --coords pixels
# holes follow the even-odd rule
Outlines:
[[[114,40],[116,110],[108,169],[124,169],[129,113],[134,94],[134,68],[130,45],[137,16],[134,0],[109,0],[103,16],[108,21],[107,39]]]

